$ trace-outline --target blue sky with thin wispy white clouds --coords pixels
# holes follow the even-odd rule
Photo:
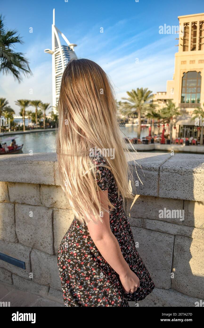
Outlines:
[[[203,0],[1,2],[5,26],[16,29],[22,36],[24,44],[16,50],[25,53],[33,72],[32,77],[24,77],[20,84],[11,75],[0,74],[0,97],[9,100],[16,114],[17,99],[52,102],[51,55],[44,53],[44,49],[51,48],[53,8],[55,25],[71,43],[78,45],[75,51],[79,58],[89,58],[102,66],[118,100],[137,87],[166,91],[166,81],[174,73],[178,41],[175,34],[159,34],[159,26],[178,25],[177,16],[204,11]],[[33,33],[29,33],[30,27]],[[33,94],[29,94],[30,89]]]

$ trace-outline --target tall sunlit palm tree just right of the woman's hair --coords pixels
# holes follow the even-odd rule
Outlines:
[[[138,139],[141,133],[141,114],[144,113],[149,107],[149,101],[152,100],[152,91],[147,88],[137,88],[137,90],[127,91],[128,98],[122,98],[127,100],[122,102],[123,113],[133,114],[138,113]]]

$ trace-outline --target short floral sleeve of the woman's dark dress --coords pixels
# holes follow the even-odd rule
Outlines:
[[[96,157],[95,163],[96,163],[97,184],[102,190],[107,190],[112,182],[113,174],[108,168],[101,166],[101,164],[108,165],[105,158]]]

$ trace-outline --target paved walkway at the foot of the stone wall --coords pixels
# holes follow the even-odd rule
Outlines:
[[[10,302],[10,307],[64,307],[64,303],[20,291],[4,282],[0,283],[0,302]]]

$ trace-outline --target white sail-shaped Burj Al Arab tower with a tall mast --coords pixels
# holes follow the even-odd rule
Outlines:
[[[61,45],[60,35],[65,40],[66,46]],[[68,62],[72,58],[77,58],[74,51],[76,46],[76,44],[70,43],[65,35],[55,26],[55,10],[53,9],[52,50],[45,49],[44,52],[52,55],[52,106],[54,107],[54,113],[56,113],[55,108],[58,105],[62,74]]]

